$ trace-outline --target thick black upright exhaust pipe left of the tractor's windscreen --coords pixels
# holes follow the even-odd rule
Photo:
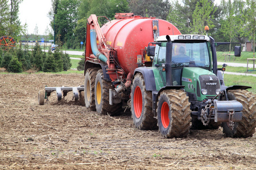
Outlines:
[[[172,42],[170,36],[166,39],[166,86],[172,86]]]

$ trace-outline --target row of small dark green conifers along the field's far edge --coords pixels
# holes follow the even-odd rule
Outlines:
[[[64,54],[59,48],[55,52],[43,52],[39,43],[36,43],[32,50],[28,49],[28,45],[23,48],[21,44],[16,48],[0,48],[0,67],[8,72],[59,72],[67,71],[71,66],[68,54]]]

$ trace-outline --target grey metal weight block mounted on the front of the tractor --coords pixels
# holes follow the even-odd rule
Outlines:
[[[214,122],[238,122],[242,120],[243,105],[236,100],[214,101]]]

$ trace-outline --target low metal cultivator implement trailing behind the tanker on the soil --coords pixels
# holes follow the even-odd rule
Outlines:
[[[57,100],[60,101],[62,98],[64,99],[65,96],[67,96],[68,92],[73,92],[72,100],[79,100],[79,96],[81,96],[81,92],[84,91],[84,86],[79,87],[44,87],[44,91],[40,90],[38,92],[38,103],[40,105],[44,105],[44,99],[48,99],[49,96],[51,96],[51,93],[53,91],[56,91]],[[63,97],[62,97],[63,96]]]

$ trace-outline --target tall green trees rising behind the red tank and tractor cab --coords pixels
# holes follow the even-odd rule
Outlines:
[[[220,5],[214,0],[52,0],[49,18],[55,35],[61,35],[68,48],[79,48],[85,42],[90,14],[112,20],[119,12],[167,20],[184,34],[205,33],[204,27],[209,25],[209,35],[216,41],[255,44],[255,11],[255,0],[221,0]],[[104,22],[99,19],[100,24]]]

